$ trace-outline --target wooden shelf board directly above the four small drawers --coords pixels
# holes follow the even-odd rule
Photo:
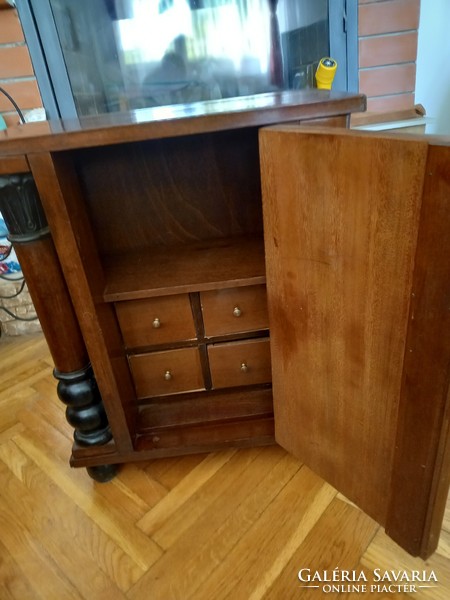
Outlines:
[[[262,236],[155,246],[104,259],[107,302],[265,283]]]

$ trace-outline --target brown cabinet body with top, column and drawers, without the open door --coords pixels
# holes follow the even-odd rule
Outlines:
[[[1,210],[74,466],[107,479],[120,462],[274,442],[259,130],[346,127],[364,107],[279,92],[4,134]]]

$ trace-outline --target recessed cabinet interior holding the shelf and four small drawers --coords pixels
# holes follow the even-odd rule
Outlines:
[[[218,295],[219,309],[228,303],[231,321],[233,290],[243,290],[238,298],[253,313],[256,306],[266,312],[258,128],[83,148],[68,157],[91,230],[80,235],[95,246],[103,277],[98,316],[121,339],[133,381],[136,443],[179,447],[191,436],[200,446],[245,444],[255,435],[271,443],[267,316],[231,330],[220,324],[220,313],[209,317],[219,324],[206,331],[203,322],[203,293]],[[181,326],[169,339],[153,335],[152,321],[166,314],[167,297],[174,298],[174,313],[178,302],[191,313],[183,314],[193,335]],[[160,299],[154,309],[152,300]],[[117,345],[109,352],[115,360]],[[247,356],[257,366],[247,367]],[[183,375],[165,382],[163,376],[172,377],[165,361]]]

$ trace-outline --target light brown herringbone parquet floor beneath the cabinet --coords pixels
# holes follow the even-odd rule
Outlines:
[[[43,336],[0,338],[1,600],[450,598],[450,504],[425,562],[277,446],[138,462],[98,484],[69,467],[71,439]],[[367,582],[298,578],[335,568]],[[384,589],[385,571],[437,582]]]

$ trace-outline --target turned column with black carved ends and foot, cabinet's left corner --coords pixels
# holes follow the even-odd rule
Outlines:
[[[108,419],[31,174],[0,177],[0,211],[55,363],[58,396],[75,441],[106,444],[112,438]],[[109,481],[115,469],[87,470],[93,479]]]

